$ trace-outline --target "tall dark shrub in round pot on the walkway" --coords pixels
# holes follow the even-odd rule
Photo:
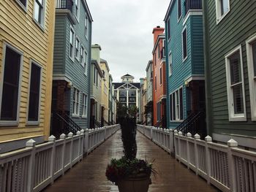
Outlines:
[[[118,123],[121,125],[121,139],[124,147],[124,156],[113,158],[106,169],[106,177],[118,185],[120,192],[146,192],[151,184],[151,173],[156,173],[152,164],[136,158],[136,115],[137,107],[127,109],[118,104]]]

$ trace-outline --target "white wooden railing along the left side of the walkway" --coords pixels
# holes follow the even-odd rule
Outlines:
[[[58,140],[50,136],[40,145],[30,139],[25,148],[0,154],[0,191],[41,191],[119,128],[114,125],[86,129],[75,135],[61,134]]]

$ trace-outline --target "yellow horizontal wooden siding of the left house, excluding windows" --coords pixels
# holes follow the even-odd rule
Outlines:
[[[34,22],[34,0],[28,1],[26,12],[15,1],[0,1],[0,76],[3,75],[2,58],[4,43],[12,45],[23,52],[19,123],[18,126],[0,127],[0,141],[38,136],[44,136],[46,139],[49,136],[55,23],[54,7],[54,1],[46,1],[45,27],[42,30]],[[37,61],[42,66],[38,126],[26,125],[29,106],[29,68],[31,59]]]

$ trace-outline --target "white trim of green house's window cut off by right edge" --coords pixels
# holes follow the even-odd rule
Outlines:
[[[256,34],[246,40],[246,55],[247,55],[247,66],[248,66],[248,79],[249,79],[249,95],[251,104],[251,115],[252,120],[256,121],[256,82],[254,80],[254,66],[252,58],[252,45],[253,41],[256,41]]]

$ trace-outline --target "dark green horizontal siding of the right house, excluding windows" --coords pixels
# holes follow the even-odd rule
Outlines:
[[[245,41],[256,33],[256,1],[230,1],[230,12],[217,25],[215,1],[207,1],[209,42],[208,59],[211,103],[208,104],[211,132],[256,136],[256,123],[251,120],[248,69]],[[238,45],[242,46],[244,88],[246,98],[245,122],[230,122],[227,108],[225,55]]]

